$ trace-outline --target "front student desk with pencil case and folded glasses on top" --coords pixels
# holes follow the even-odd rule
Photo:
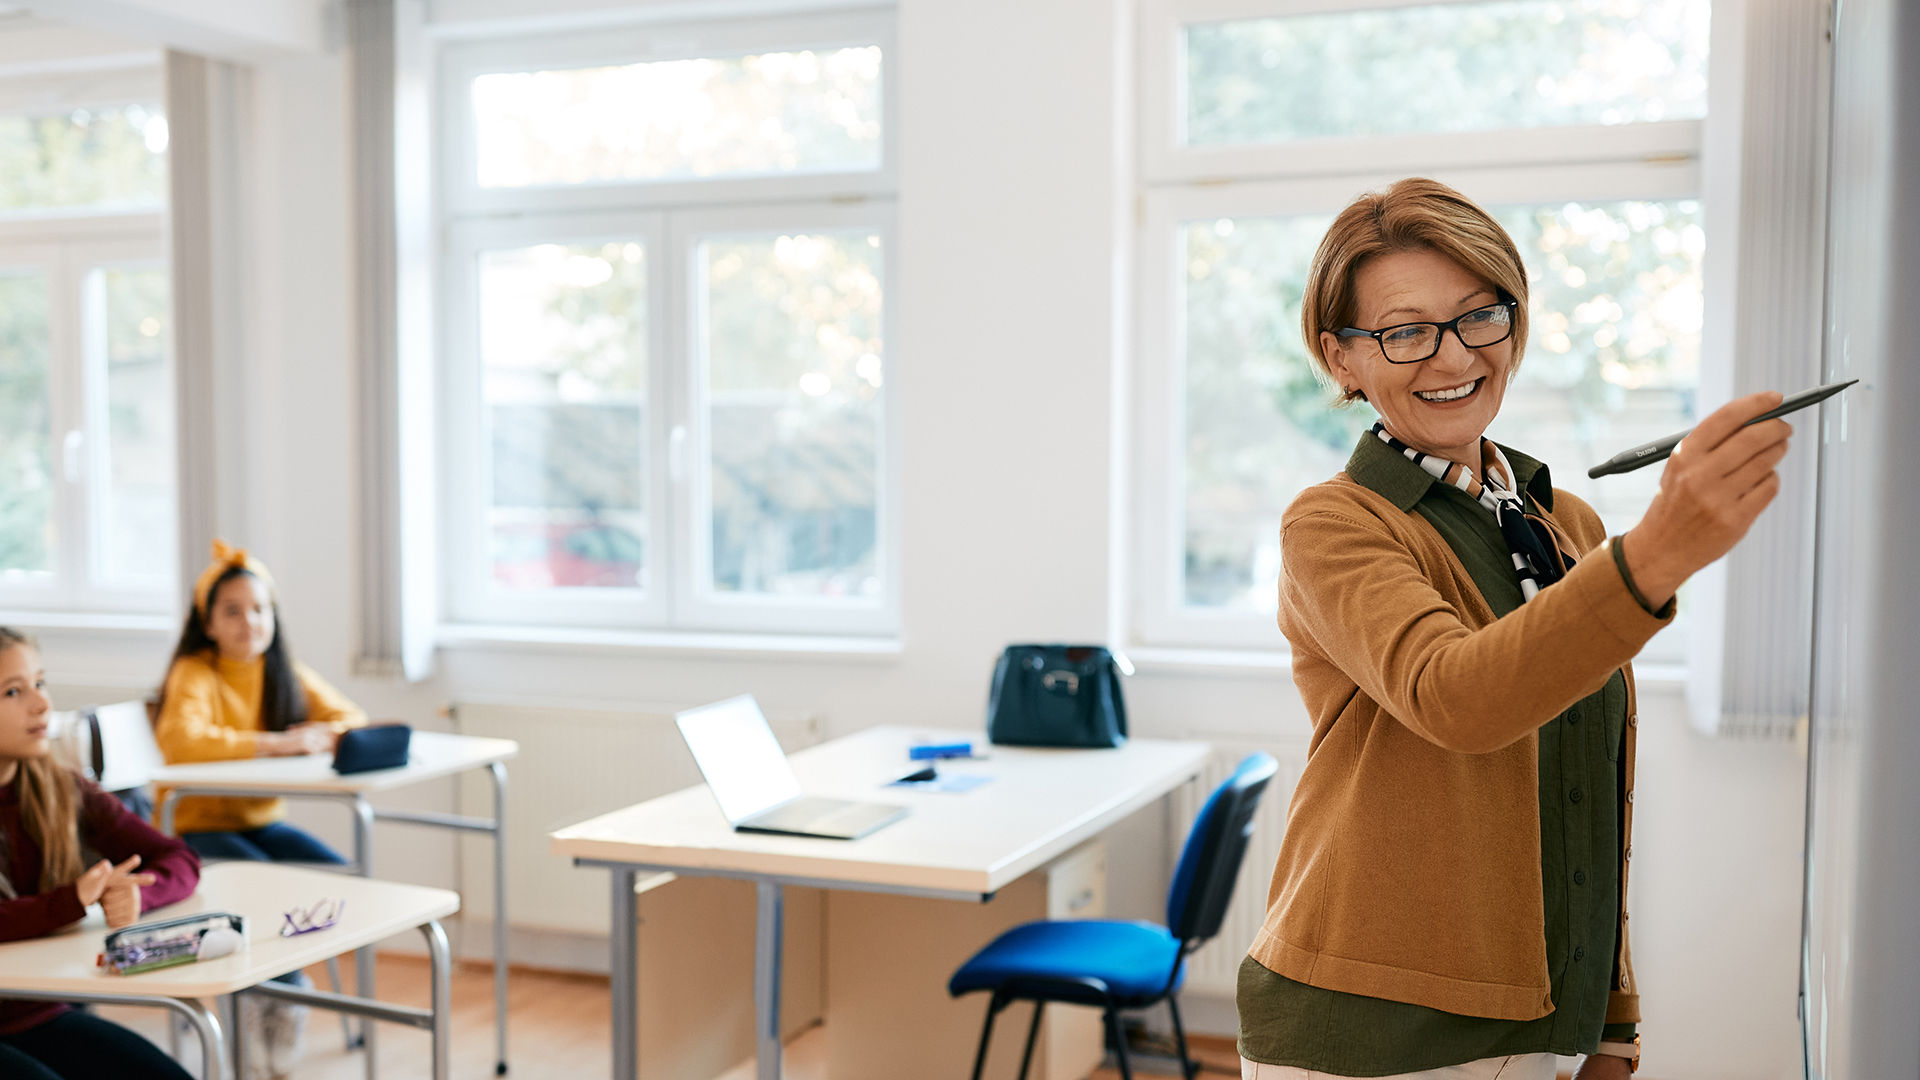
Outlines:
[[[328,930],[282,938],[284,913],[294,907],[309,907],[321,897],[346,901],[340,922]],[[106,920],[94,911],[60,934],[0,945],[0,997],[171,1009],[200,1034],[202,1076],[205,1080],[221,1080],[225,1074],[223,1063],[228,1055],[221,1051],[223,1042],[230,1043],[232,1076],[244,1074],[244,1061],[240,1061],[244,1040],[238,1038],[236,1030],[238,995],[252,992],[286,997],[430,1030],[434,1036],[432,1076],[447,1080],[447,1063],[453,1057],[447,994],[453,974],[447,936],[440,930],[440,919],[459,909],[459,894],[442,888],[374,882],[273,863],[219,863],[200,874],[200,888],[194,896],[156,909],[144,920],[198,911],[232,911],[246,917],[248,947],[244,951],[217,961],[142,974],[108,974],[94,963],[106,938]],[[369,947],[382,938],[413,928],[426,936],[432,963],[432,1009],[384,1005],[317,990],[261,986],[276,974]],[[202,997],[225,999],[225,1022],[207,1011]],[[232,1032],[232,1036],[223,1038],[225,1032]]]

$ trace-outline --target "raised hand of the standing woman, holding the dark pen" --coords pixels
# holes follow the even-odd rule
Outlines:
[[[1766,390],[1720,405],[1693,429],[1661,473],[1661,490],[1622,542],[1626,569],[1647,603],[1665,607],[1680,582],[1705,569],[1747,534],[1774,502],[1793,429],[1782,419],[1747,421],[1780,404]]]

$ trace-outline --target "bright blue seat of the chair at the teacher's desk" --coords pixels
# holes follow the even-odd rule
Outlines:
[[[973,959],[948,980],[947,992],[960,995],[973,990],[1002,990],[1021,978],[1096,978],[1106,984],[1114,1005],[1140,1005],[1156,1001],[1167,990],[1167,972],[1173,970],[1179,953],[1181,944],[1173,934],[1154,922],[1108,919],[1027,922],[973,953]],[[1179,988],[1179,980],[1173,988]],[[1020,997],[1102,1003],[1091,994],[1066,988],[1020,994]]]

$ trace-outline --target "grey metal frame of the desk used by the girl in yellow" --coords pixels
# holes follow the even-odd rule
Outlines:
[[[179,799],[182,796],[238,796],[238,798],[252,798],[252,799],[259,799],[259,798],[292,798],[292,799],[323,799],[323,801],[346,803],[348,809],[353,811],[353,863],[348,869],[349,869],[349,872],[355,872],[355,874],[359,874],[363,878],[371,878],[372,876],[372,822],[374,821],[397,821],[397,822],[405,822],[405,824],[430,824],[430,826],[436,826],[436,828],[451,828],[455,832],[490,832],[490,834],[493,834],[493,1036],[495,1036],[495,1049],[497,1049],[497,1057],[493,1059],[493,1074],[495,1076],[505,1076],[507,1074],[507,763],[505,761],[490,761],[486,765],[486,769],[488,769],[488,773],[493,778],[493,817],[492,819],[463,817],[463,815],[451,815],[451,813],[428,813],[428,811],[384,811],[384,809],[374,807],[372,801],[367,799],[365,792],[317,792],[317,790],[311,790],[311,788],[292,788],[292,786],[288,786],[288,788],[259,788],[259,786],[234,788],[234,786],[219,786],[219,784],[190,784],[190,782],[188,784],[180,784],[180,782],[175,782],[175,780],[167,780],[165,782],[167,784],[167,794],[161,796],[159,807],[157,807],[159,830],[165,832],[167,836],[173,836],[173,811],[175,811],[175,805],[179,803]],[[632,901],[630,901],[630,907],[632,907]],[[438,930],[438,922],[436,922],[436,930]],[[440,947],[445,949],[445,936],[444,934],[440,938]],[[432,951],[432,938],[428,938],[428,951]],[[265,994],[269,997],[286,997],[290,1001],[298,999],[298,1001],[321,1005],[321,1007],[326,1007],[326,1009],[334,1009],[334,1011],[340,1011],[340,1013],[371,1015],[371,1013],[365,1013],[361,1007],[348,1009],[348,1007],[340,1007],[340,1005],[328,1005],[328,1003],[321,1001],[319,997],[305,997],[305,995],[321,994],[321,997],[324,997],[326,1001],[334,1001],[334,999],[361,1001],[361,1003],[372,1001],[372,995],[374,995],[374,951],[372,951],[372,945],[367,945],[367,947],[357,949],[353,953],[353,990],[359,994],[359,997],[342,997],[338,994],[321,994],[321,992],[315,992],[315,990],[294,990],[294,988],[288,988],[288,990],[275,988],[271,992],[261,992],[261,994]],[[438,980],[434,984],[434,992],[436,994],[440,992]],[[296,995],[301,995],[301,997],[296,997]],[[399,1007],[397,1005],[380,1005],[380,1009],[399,1009]],[[396,1020],[396,1022],[415,1022],[413,1019],[407,1019],[403,1015],[394,1015],[394,1017],[374,1015],[372,1019],[378,1019],[378,1020]],[[436,1040],[438,1040],[438,1036],[436,1036]],[[372,1028],[371,1026],[363,1034],[363,1043],[365,1043],[365,1051],[367,1051],[367,1080],[374,1080],[374,1076],[376,1076],[376,1063],[374,1063],[374,1038],[372,1038]],[[234,1045],[238,1045],[238,1040],[234,1040]],[[436,1042],[434,1047],[436,1047],[434,1049],[434,1059],[438,1061],[440,1059],[440,1049],[438,1049],[440,1043]],[[236,1076],[238,1076],[238,1072],[236,1072]],[[436,1072],[434,1076],[436,1076],[436,1080],[445,1080],[444,1072]]]

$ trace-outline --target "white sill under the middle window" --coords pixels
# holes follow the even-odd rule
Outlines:
[[[438,632],[442,650],[453,651],[545,651],[614,655],[728,655],[728,657],[810,657],[885,663],[899,659],[899,638],[854,638],[812,634],[722,634],[699,630],[589,630],[576,626],[503,626],[449,623]]]

